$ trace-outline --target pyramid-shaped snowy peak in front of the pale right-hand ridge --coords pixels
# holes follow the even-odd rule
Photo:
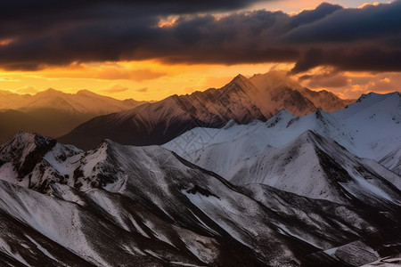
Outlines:
[[[308,131],[280,149],[238,163],[225,178],[234,184],[263,183],[337,203],[357,198],[365,203],[401,205],[401,177],[385,168],[376,172],[378,166]]]

